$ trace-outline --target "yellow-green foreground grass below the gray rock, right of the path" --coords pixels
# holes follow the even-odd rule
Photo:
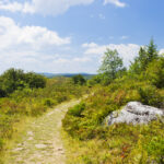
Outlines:
[[[145,164],[163,163],[164,124],[112,126],[105,138],[81,141],[62,132],[68,164]],[[152,130],[153,129],[153,130]]]

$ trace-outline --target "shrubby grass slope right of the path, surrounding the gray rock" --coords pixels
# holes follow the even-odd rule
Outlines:
[[[68,164],[164,163],[164,121],[144,126],[104,125],[106,116],[131,101],[163,108],[163,89],[148,81],[128,78],[94,87],[80,115],[72,115],[70,108],[62,121]]]

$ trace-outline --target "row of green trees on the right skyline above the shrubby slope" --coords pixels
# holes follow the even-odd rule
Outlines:
[[[151,39],[150,44],[143,46],[139,50],[138,57],[131,62],[129,69],[124,67],[122,59],[117,50],[107,49],[104,55],[103,63],[98,70],[98,74],[89,80],[87,84],[108,85],[115,79],[138,78],[140,80],[149,80],[156,87],[164,87],[164,55],[160,55],[157,47]]]

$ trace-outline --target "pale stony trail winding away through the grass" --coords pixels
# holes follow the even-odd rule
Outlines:
[[[80,101],[71,101],[28,122],[24,134],[7,152],[4,164],[65,164],[61,120],[67,109]]]

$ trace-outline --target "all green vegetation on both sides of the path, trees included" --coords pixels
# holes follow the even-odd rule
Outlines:
[[[137,126],[108,127],[105,122],[112,112],[132,101],[164,108],[164,55],[153,40],[140,48],[128,69],[117,50],[107,49],[98,74],[90,80],[80,74],[47,79],[22,70],[5,71],[0,75],[0,160],[23,119],[35,119],[50,107],[85,94],[62,120],[68,163],[164,163],[163,119]]]

